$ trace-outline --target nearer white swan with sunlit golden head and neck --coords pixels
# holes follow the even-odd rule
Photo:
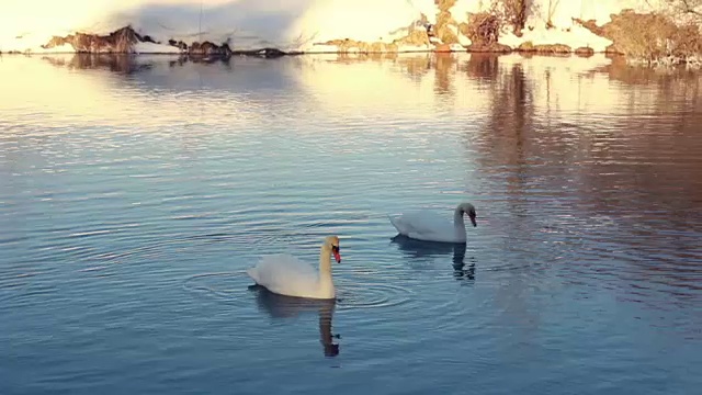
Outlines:
[[[280,295],[331,300],[336,298],[331,256],[339,263],[339,237],[329,236],[319,252],[319,272],[310,264],[283,253],[263,257],[246,272],[258,285]]]

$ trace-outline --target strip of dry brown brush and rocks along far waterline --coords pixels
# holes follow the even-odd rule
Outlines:
[[[505,31],[508,24],[489,12],[468,13],[467,22],[461,23],[450,18],[448,9],[442,12],[449,16],[444,15],[435,24],[428,23],[422,14],[421,21],[415,21],[403,29],[405,35],[392,42],[339,38],[309,43],[305,49],[302,46],[293,50],[280,49],[275,47],[276,44],[253,49],[233,49],[231,37],[222,44],[213,41],[186,43],[174,38],[165,42],[137,32],[132,25],[125,25],[107,34],[75,32],[66,36],[55,35],[45,44],[30,46],[24,50],[3,52],[0,48],[0,56],[167,55],[193,59],[228,59],[237,56],[279,58],[303,55],[517,53],[523,56],[589,58],[603,54],[608,58],[624,58],[627,64],[635,66],[702,67],[702,33],[699,26],[679,26],[669,18],[657,13],[622,10],[619,14],[611,14],[611,21],[602,25],[598,25],[595,20],[573,18],[574,26],[568,29],[526,26],[518,32],[514,26],[514,32],[510,33]]]

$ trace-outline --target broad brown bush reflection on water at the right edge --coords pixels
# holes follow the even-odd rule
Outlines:
[[[636,221],[646,221],[641,214],[658,207],[666,211],[666,222],[688,222],[702,208],[702,179],[695,177],[702,168],[702,76],[616,65],[602,71],[630,88],[623,93],[627,116],[586,136],[590,150],[580,168],[580,189],[599,198],[588,203],[611,215],[633,214]],[[656,98],[652,104],[642,103],[650,95]]]

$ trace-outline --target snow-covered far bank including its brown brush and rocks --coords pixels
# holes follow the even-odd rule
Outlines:
[[[228,55],[275,48],[589,55],[618,52],[612,34],[601,26],[623,10],[665,14],[669,1],[4,0],[0,50]],[[125,26],[133,33],[125,33]]]

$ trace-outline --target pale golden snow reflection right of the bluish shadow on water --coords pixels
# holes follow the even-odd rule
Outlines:
[[[393,60],[344,56],[301,61],[307,65],[296,77],[317,97],[318,111],[328,109],[349,116],[401,119],[411,111],[414,119],[432,120],[440,109],[482,117],[492,111],[490,94],[499,90],[506,76],[516,78],[513,74],[524,78],[529,90],[529,101],[520,105],[532,108],[535,119],[626,112],[632,94],[645,113],[661,100],[649,88],[614,81],[627,82],[629,76],[637,74],[601,54],[589,58],[426,54]],[[664,78],[653,71],[645,75]]]

